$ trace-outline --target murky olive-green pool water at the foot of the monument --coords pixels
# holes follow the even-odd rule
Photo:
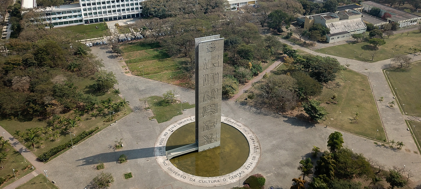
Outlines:
[[[171,134],[166,149],[172,150],[195,143],[195,123],[188,123]],[[190,152],[170,161],[186,173],[203,176],[221,176],[240,168],[248,158],[249,146],[245,136],[234,127],[221,123],[221,146],[202,152]]]

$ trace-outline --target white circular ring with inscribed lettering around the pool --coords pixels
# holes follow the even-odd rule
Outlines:
[[[165,155],[165,145],[167,144],[168,138],[175,130],[179,129],[181,126],[186,125],[187,123],[192,122],[195,122],[195,116],[180,119],[179,121],[176,121],[170,126],[168,126],[159,135],[157,142],[155,143],[155,158],[157,160],[157,163],[166,173],[168,173],[170,176],[176,178],[179,181],[183,181],[195,186],[222,186],[237,182],[238,180],[240,180],[240,177],[245,178],[245,176],[247,176],[251,173],[251,171],[253,171],[261,155],[260,143],[258,142],[258,139],[254,135],[254,133],[250,131],[250,129],[248,129],[245,125],[225,116],[221,116],[221,122],[229,124],[234,128],[238,129],[248,141],[250,152],[245,163],[232,173],[214,177],[195,176],[189,173],[185,173],[180,169],[176,168],[170,162],[170,160],[167,159],[167,156]]]

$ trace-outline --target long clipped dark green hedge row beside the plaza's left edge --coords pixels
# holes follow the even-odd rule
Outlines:
[[[98,129],[99,129],[99,127],[96,126],[95,128],[93,128],[89,131],[82,131],[82,133],[78,134],[75,138],[73,138],[73,144],[76,144],[76,143],[80,142],[81,140],[86,138],[86,136],[89,136],[90,134],[94,133]],[[58,154],[59,152],[61,152],[63,150],[66,150],[66,148],[71,147],[71,146],[72,146],[72,141],[69,140],[64,144],[53,147],[50,150],[48,150],[47,152],[42,153],[41,155],[38,156],[38,159],[41,160],[41,161],[44,161],[44,162],[48,161],[54,155]]]

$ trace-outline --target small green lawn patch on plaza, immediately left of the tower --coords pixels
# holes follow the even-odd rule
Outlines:
[[[170,121],[174,116],[183,114],[181,110],[195,107],[194,104],[190,105],[188,102],[181,103],[180,101],[170,104],[158,96],[148,97],[147,102],[158,123]]]

